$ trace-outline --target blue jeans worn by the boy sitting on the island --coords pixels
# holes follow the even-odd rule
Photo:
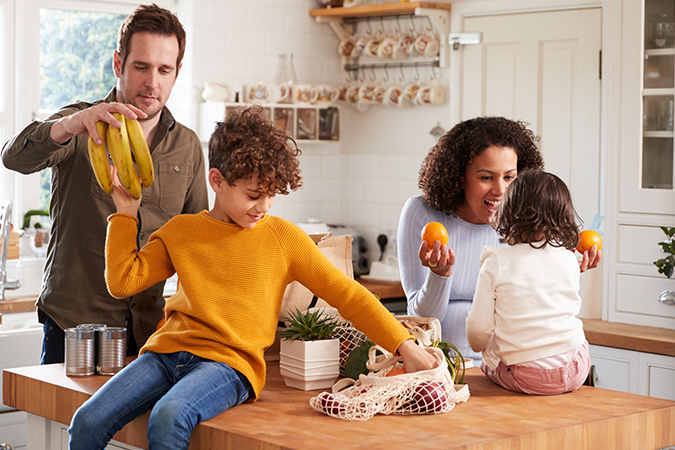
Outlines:
[[[147,352],[113,376],[73,416],[71,450],[104,449],[128,422],[152,408],[150,450],[187,449],[194,427],[246,401],[253,390],[225,363],[188,352]]]

